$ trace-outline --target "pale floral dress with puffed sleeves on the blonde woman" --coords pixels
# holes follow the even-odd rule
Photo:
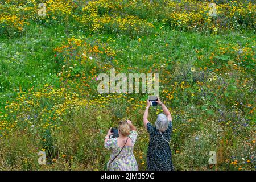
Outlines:
[[[117,138],[110,138],[105,142],[105,148],[112,150],[110,154],[110,160],[108,162],[108,167],[110,171],[138,171],[138,164],[136,162],[135,156],[133,154],[133,147],[137,139],[137,131],[131,131],[128,136],[131,139],[132,146],[123,147],[122,152],[115,158],[122,147],[117,144]],[[114,159],[115,158],[115,159]],[[110,164],[110,161],[113,162]]]

